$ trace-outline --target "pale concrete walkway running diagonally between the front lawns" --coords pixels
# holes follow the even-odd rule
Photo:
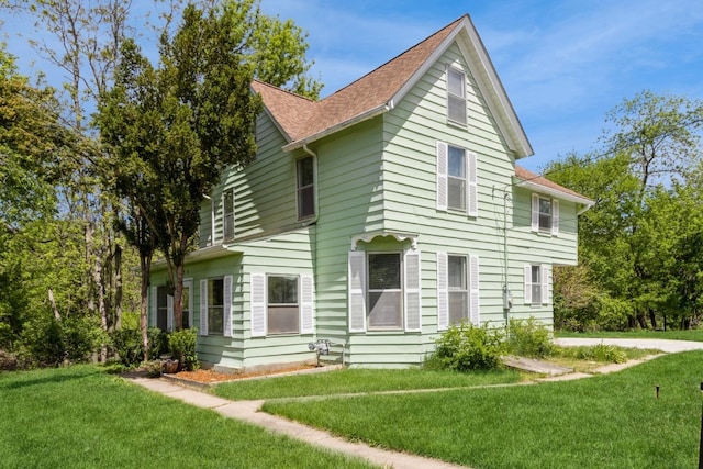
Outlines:
[[[305,443],[323,447],[333,451],[344,453],[366,459],[371,464],[384,468],[395,469],[466,469],[465,466],[455,466],[437,459],[424,458],[421,456],[408,455],[404,453],[389,451],[370,447],[364,443],[350,443],[344,438],[333,436],[327,432],[311,428],[309,426],[291,422],[276,415],[259,412],[264,401],[230,401],[217,398],[205,392],[196,391],[182,386],[174,384],[164,379],[153,378],[130,378],[131,381],[141,384],[154,392],[168,395],[174,399],[196,405],[202,409],[210,409],[230,418],[237,418],[258,426],[263,426],[274,433],[288,435],[292,438],[302,439]]]

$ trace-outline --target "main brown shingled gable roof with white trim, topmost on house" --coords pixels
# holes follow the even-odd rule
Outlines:
[[[284,148],[299,148],[392,109],[454,42],[466,56],[515,156],[532,155],[527,136],[468,15],[323,100],[311,101],[259,81],[253,89],[261,94],[267,111],[289,139]]]

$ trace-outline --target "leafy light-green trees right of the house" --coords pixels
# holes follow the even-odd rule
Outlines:
[[[579,261],[598,289],[599,321],[647,328],[666,314],[685,323],[700,302],[692,241],[701,185],[692,169],[701,167],[703,103],[644,91],[607,121],[600,155],[570,155],[547,169],[596,201],[579,222]]]

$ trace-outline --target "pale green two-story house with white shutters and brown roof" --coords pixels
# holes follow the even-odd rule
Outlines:
[[[550,324],[591,201],[533,149],[468,15],[330,97],[263,82],[256,160],[222,175],[186,264],[185,317],[223,369],[419,365],[462,320]],[[171,326],[155,265],[149,319]]]

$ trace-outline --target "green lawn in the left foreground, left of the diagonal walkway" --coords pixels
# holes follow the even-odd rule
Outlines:
[[[365,468],[94,366],[0,373],[1,468]]]

